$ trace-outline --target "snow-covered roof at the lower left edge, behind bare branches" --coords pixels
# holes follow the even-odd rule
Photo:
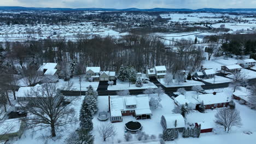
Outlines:
[[[17,133],[20,130],[21,120],[19,118],[7,119],[5,120],[0,127],[0,135]]]

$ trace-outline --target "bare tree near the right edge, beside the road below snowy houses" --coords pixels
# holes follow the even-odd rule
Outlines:
[[[247,85],[246,78],[247,76],[245,74],[240,73],[240,71],[232,73],[232,81],[230,82],[230,86],[234,88],[233,92],[236,91],[237,87]]]

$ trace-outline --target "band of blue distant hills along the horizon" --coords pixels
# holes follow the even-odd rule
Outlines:
[[[0,7],[0,10],[60,10],[60,11],[71,11],[71,10],[88,10],[88,11],[209,11],[209,12],[256,12],[256,9],[167,9],[167,8],[153,8],[153,9],[103,9],[103,8],[27,8],[27,7]]]

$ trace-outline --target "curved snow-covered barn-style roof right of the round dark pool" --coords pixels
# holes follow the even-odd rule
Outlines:
[[[162,115],[162,117],[165,118],[166,121],[166,129],[172,129],[172,128],[184,128],[185,127],[185,121],[181,114],[172,114],[172,115]],[[175,127],[175,121],[177,120],[177,125]]]

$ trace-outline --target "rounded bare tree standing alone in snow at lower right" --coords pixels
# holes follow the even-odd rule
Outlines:
[[[215,118],[215,123],[228,132],[233,126],[240,127],[242,124],[240,112],[236,109],[221,109],[216,113]]]

